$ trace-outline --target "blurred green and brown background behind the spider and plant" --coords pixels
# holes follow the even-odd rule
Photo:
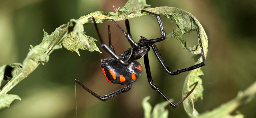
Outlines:
[[[115,12],[126,0],[1,0],[0,1],[0,66],[8,63],[22,63],[29,51],[29,45],[36,46],[43,39],[43,29],[51,34],[55,28],[67,24],[71,18],[78,19],[94,11]],[[195,103],[199,113],[212,110],[236,97],[256,80],[256,1],[255,0],[147,0],[151,7],[178,7],[193,14],[208,35],[209,51],[206,65],[201,68],[204,99]],[[114,6],[114,8],[113,8]],[[153,16],[132,18],[132,37],[159,37],[157,20]],[[174,22],[162,16],[167,34],[172,32]],[[124,21],[118,21],[125,28]],[[112,42],[119,55],[129,48],[123,34],[106,21],[98,24],[103,39],[108,41],[107,26],[110,24]],[[92,23],[84,24],[86,35],[96,39]],[[183,35],[189,47],[197,44],[196,32]],[[95,41],[99,45],[98,41]],[[171,70],[194,64],[192,54],[183,50],[172,38],[156,44]],[[26,79],[16,85],[9,94],[22,99],[15,100],[10,108],[1,109],[1,118],[75,118],[76,103],[78,118],[142,118],[141,101],[150,96],[149,102],[164,101],[148,84],[145,70],[132,89],[113,99],[102,102],[76,85],[74,79],[99,95],[116,91],[122,85],[108,83],[100,69],[101,59],[109,55],[79,50],[76,52],[55,50],[45,65],[39,65]],[[143,59],[138,60],[142,63]],[[168,75],[157,61],[153,51],[149,61],[154,83],[177,103],[181,99],[182,87],[188,72]],[[6,82],[2,82],[6,84]],[[1,86],[1,88],[3,85]],[[76,96],[75,96],[76,94]],[[256,117],[256,100],[238,110],[247,118]],[[188,117],[183,106],[169,110],[169,117]]]

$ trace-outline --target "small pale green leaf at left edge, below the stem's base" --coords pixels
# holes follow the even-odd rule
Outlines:
[[[12,103],[13,100],[21,100],[18,95],[12,95],[12,94],[3,94],[0,97],[0,109],[4,107],[10,107],[10,104]]]

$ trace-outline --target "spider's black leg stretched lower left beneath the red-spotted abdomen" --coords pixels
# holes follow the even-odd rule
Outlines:
[[[77,84],[79,84],[80,86],[82,86],[86,91],[88,91],[88,92],[91,93],[93,96],[95,96],[96,98],[100,99],[101,101],[106,101],[106,100],[108,100],[108,99],[110,99],[110,98],[113,98],[113,97],[117,96],[117,95],[120,94],[120,93],[128,92],[128,91],[131,90],[131,88],[132,88],[132,84],[131,84],[131,85],[127,85],[127,87],[125,87],[125,88],[121,88],[121,89],[119,89],[119,90],[117,90],[117,91],[115,91],[115,92],[112,92],[112,93],[110,93],[110,94],[108,94],[108,95],[104,95],[104,96],[101,97],[101,96],[97,95],[96,93],[92,92],[92,91],[91,91],[89,88],[87,88],[86,86],[84,86],[80,81],[78,81],[78,80],[76,80],[76,79],[75,79],[75,81],[76,81]]]

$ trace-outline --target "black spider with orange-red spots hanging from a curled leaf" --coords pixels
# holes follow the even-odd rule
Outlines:
[[[108,95],[104,95],[104,96],[101,97],[101,96],[97,95],[96,93],[92,92],[89,88],[84,86],[78,80],[75,80],[76,83],[81,85],[86,91],[90,92],[93,96],[95,96],[96,98],[98,98],[102,101],[106,101],[106,100],[108,100],[112,97],[115,97],[116,95],[118,95],[120,93],[127,92],[132,88],[132,83],[134,83],[136,80],[138,80],[138,78],[140,77],[141,72],[142,72],[141,64],[139,62],[135,61],[135,60],[140,59],[143,56],[144,56],[144,63],[145,63],[145,68],[146,68],[146,73],[147,73],[149,85],[156,92],[158,92],[164,100],[169,101],[169,98],[166,97],[164,95],[164,93],[161,92],[161,90],[159,90],[156,87],[156,85],[154,85],[154,83],[153,83],[150,68],[149,68],[149,61],[148,61],[148,51],[150,49],[149,46],[152,47],[157,59],[159,60],[159,62],[164,67],[164,70],[169,75],[178,75],[181,72],[194,70],[196,68],[199,68],[199,67],[202,67],[202,66],[205,65],[204,51],[203,51],[203,47],[202,47],[202,42],[201,42],[201,39],[200,39],[199,31],[197,31],[197,35],[198,35],[198,38],[199,38],[199,43],[200,43],[200,47],[201,47],[201,51],[202,51],[201,53],[202,53],[202,57],[203,57],[203,62],[199,63],[199,64],[196,64],[196,65],[193,65],[193,66],[190,66],[188,68],[171,71],[168,68],[168,66],[166,65],[166,63],[164,62],[164,59],[161,56],[161,54],[159,53],[158,49],[156,48],[156,45],[154,44],[156,42],[160,42],[160,41],[163,41],[165,39],[165,31],[164,31],[163,23],[162,23],[162,20],[161,20],[160,16],[155,14],[155,13],[145,11],[145,10],[141,10],[141,12],[146,12],[146,13],[149,13],[153,16],[156,16],[158,24],[160,26],[162,37],[155,38],[155,39],[146,39],[146,38],[140,36],[141,39],[139,40],[138,43],[136,43],[136,42],[133,41],[133,39],[131,37],[129,21],[127,19],[125,20],[125,25],[126,25],[126,29],[127,29],[127,33],[126,33],[112,19],[112,22],[124,33],[125,37],[127,38],[129,43],[131,44],[131,48],[129,48],[127,51],[124,52],[124,54],[121,54],[120,56],[116,55],[116,53],[114,51],[114,48],[111,44],[110,26],[108,25],[108,40],[109,40],[109,47],[108,47],[102,41],[100,33],[99,33],[98,26],[96,24],[96,21],[92,17],[94,26],[95,26],[96,31],[97,31],[98,38],[100,40],[100,47],[103,48],[106,52],[108,52],[108,54],[110,54],[112,56],[112,58],[107,58],[107,59],[104,59],[104,60],[101,61],[100,67],[102,69],[102,72],[103,72],[105,78],[110,83],[120,84],[120,85],[127,85],[127,87],[125,87],[125,88],[121,88],[121,89],[119,89],[115,92],[112,92]],[[180,100],[179,103],[174,104],[173,102],[170,102],[169,105],[172,106],[172,108],[175,108],[175,107],[179,106],[194,91],[197,84],[198,84],[198,82],[196,82],[194,84],[195,86],[193,87],[193,89],[190,92],[188,92],[188,94],[182,100]]]

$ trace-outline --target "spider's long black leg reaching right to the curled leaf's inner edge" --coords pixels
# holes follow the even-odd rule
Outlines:
[[[194,69],[197,69],[197,68],[200,68],[202,66],[205,65],[205,59],[204,59],[204,50],[203,50],[203,46],[202,46],[202,41],[201,41],[201,38],[200,38],[200,34],[199,34],[199,31],[197,31],[197,35],[198,35],[198,38],[199,38],[199,44],[200,44],[200,47],[201,47],[201,53],[202,53],[202,58],[203,58],[203,62],[201,63],[198,63],[196,65],[193,65],[193,66],[190,66],[188,68],[184,68],[184,69],[180,69],[180,70],[175,70],[175,71],[171,71],[169,69],[169,67],[166,65],[166,63],[164,62],[164,59],[163,57],[161,56],[160,52],[158,51],[158,49],[156,48],[156,45],[155,44],[151,44],[151,47],[157,57],[157,59],[159,60],[159,62],[162,64],[162,66],[164,67],[164,70],[169,74],[169,75],[178,75],[180,74],[181,72],[185,72],[185,71],[189,71],[189,70],[194,70]]]

